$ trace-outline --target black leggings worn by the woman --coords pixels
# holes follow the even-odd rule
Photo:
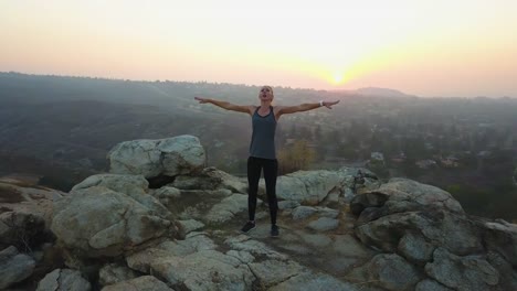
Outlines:
[[[276,225],[276,213],[278,203],[276,201],[276,175],[278,173],[278,162],[276,160],[247,158],[247,213],[250,220],[255,220],[256,194],[258,192],[258,180],[264,169],[264,180],[266,182],[267,202],[270,204],[271,224]]]

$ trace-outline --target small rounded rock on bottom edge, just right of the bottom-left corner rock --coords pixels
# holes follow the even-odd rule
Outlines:
[[[92,290],[92,285],[81,276],[80,271],[55,269],[38,283],[36,289],[36,291],[61,290],[89,291]]]

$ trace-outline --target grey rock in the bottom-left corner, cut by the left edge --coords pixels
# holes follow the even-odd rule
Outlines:
[[[31,277],[35,261],[30,256],[19,254],[13,246],[0,251],[0,289],[10,287]]]

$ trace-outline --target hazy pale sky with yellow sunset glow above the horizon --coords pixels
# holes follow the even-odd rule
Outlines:
[[[517,97],[515,0],[0,0],[0,72]]]

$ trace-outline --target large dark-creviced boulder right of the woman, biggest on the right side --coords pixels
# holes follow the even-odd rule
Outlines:
[[[363,244],[416,263],[429,261],[435,246],[457,255],[483,250],[479,228],[460,203],[431,185],[392,179],[357,195],[350,209],[359,215],[355,230]]]

